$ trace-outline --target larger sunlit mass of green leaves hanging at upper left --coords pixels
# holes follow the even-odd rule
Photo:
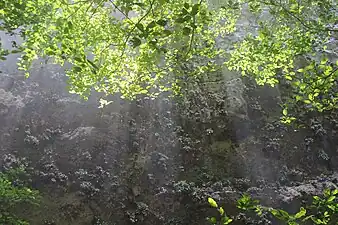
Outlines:
[[[48,57],[72,64],[70,89],[84,98],[93,89],[134,98],[178,93],[192,58],[203,62],[192,75],[212,67],[215,38],[235,26],[228,15],[236,13],[205,1],[4,0],[0,29],[24,39],[19,69]]]

